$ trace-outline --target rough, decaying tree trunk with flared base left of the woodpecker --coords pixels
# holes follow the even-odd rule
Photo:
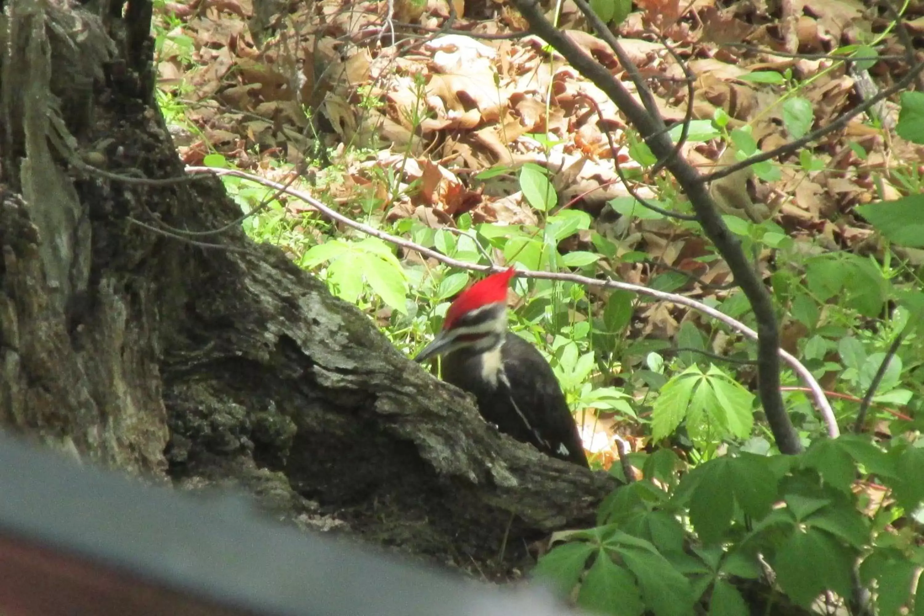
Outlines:
[[[117,2],[6,4],[7,429],[490,577],[523,539],[592,520],[606,477],[499,435],[280,251],[237,227],[194,238],[220,248],[170,236],[239,212],[216,180],[141,179],[183,176],[152,104],[149,0],[125,18]]]

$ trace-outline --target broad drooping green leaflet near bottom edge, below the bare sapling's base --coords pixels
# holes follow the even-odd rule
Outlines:
[[[796,528],[772,564],[777,582],[804,608],[825,590],[850,597],[851,554],[821,531]]]

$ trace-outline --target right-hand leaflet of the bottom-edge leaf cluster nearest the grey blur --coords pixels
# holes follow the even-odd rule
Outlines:
[[[687,578],[662,555],[648,550],[616,550],[636,576],[645,605],[657,616],[692,616],[693,593]]]

